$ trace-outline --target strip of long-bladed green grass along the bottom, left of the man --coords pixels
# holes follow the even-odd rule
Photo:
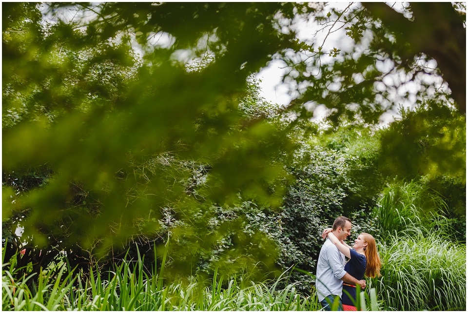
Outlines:
[[[5,311],[80,310],[80,311],[316,311],[320,304],[315,295],[306,296],[289,284],[277,285],[283,278],[264,283],[225,279],[215,273],[212,279],[201,276],[181,278],[163,284],[160,274],[148,276],[138,258],[131,270],[123,262],[115,272],[101,279],[90,271],[73,276],[63,265],[57,278],[40,273],[39,283],[29,289],[32,277],[15,281],[14,268],[2,267],[2,309]],[[66,274],[68,270],[69,274]],[[52,271],[49,271],[49,273]],[[247,286],[244,286],[247,285]]]

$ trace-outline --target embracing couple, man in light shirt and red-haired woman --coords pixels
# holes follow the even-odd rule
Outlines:
[[[331,311],[334,301],[338,301],[338,311],[356,311],[353,303],[356,286],[366,287],[364,274],[380,276],[381,263],[374,237],[361,233],[350,247],[344,242],[349,235],[351,220],[345,216],[336,218],[333,228],[325,229],[322,234],[324,239],[328,238],[318,257],[315,289],[324,311]],[[345,256],[350,259],[347,263]]]

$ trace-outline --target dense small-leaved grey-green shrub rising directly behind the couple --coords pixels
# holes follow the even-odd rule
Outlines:
[[[284,200],[282,229],[275,233],[281,247],[278,262],[282,268],[297,265],[315,274],[323,228],[342,214],[354,218],[353,231],[366,228],[364,219],[357,217],[370,212],[374,195],[363,183],[368,166],[357,157],[306,144],[295,157],[291,173],[296,180]],[[347,203],[352,196],[358,197],[360,203]],[[300,273],[292,277],[310,280]]]

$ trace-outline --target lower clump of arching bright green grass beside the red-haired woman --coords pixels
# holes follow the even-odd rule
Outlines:
[[[384,308],[397,311],[466,309],[466,246],[427,237],[393,237],[379,245],[382,277],[373,279]]]

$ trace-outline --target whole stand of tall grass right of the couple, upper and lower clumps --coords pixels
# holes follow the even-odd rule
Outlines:
[[[466,245],[456,242],[447,210],[440,196],[415,181],[384,191],[374,212],[382,277],[370,281],[384,309],[466,309]]]

